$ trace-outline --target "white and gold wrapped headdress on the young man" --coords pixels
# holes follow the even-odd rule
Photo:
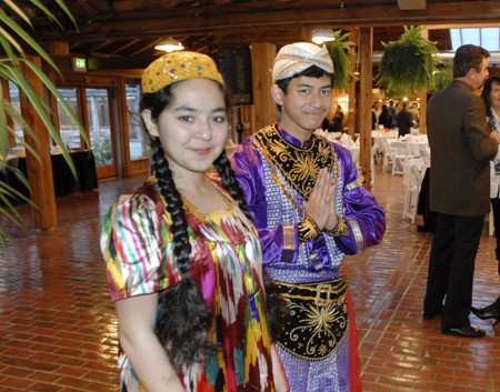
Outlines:
[[[272,82],[293,77],[311,66],[317,66],[328,73],[333,73],[333,62],[327,47],[318,47],[309,42],[286,44],[274,59]]]

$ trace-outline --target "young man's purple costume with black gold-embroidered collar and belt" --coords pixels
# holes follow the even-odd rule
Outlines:
[[[361,391],[353,311],[340,267],[346,254],[381,241],[386,218],[362,187],[350,152],[314,134],[301,143],[270,125],[238,145],[232,168],[259,232],[267,274],[289,303],[277,348],[290,391]],[[304,224],[304,211],[321,168],[336,187],[342,228],[317,235],[310,221]]]

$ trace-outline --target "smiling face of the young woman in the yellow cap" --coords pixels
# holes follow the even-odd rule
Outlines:
[[[160,138],[176,175],[204,173],[222,152],[228,137],[227,108],[220,86],[209,79],[189,79],[172,86],[172,94],[158,122],[144,111],[148,131]]]

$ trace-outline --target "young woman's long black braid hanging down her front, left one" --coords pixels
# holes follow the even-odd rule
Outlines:
[[[172,364],[180,369],[213,353],[217,345],[209,339],[212,312],[200,289],[189,277],[191,244],[180,193],[159,138],[151,141],[152,161],[160,193],[172,219],[173,254],[181,281],[161,296],[156,332]]]

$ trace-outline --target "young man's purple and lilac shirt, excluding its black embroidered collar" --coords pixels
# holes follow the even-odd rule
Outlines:
[[[319,139],[312,135],[301,147],[300,141],[287,132],[280,131],[280,134],[290,148],[304,151],[310,149],[314,138]],[[356,254],[382,240],[386,231],[383,210],[361,185],[350,152],[337,143],[331,145],[340,165],[340,179],[337,179],[336,165],[331,173],[332,179],[337,179],[337,213],[346,219],[349,235],[331,237],[321,233],[318,239],[306,243],[299,242],[298,237],[298,222],[303,218],[298,210],[304,208],[303,197],[287,182],[279,169],[274,167],[271,170],[254,138],[243,140],[232,155],[232,168],[259,231],[263,262],[273,279],[284,278],[277,277],[273,269],[307,271],[297,277],[300,282],[336,278],[344,254]],[[276,183],[276,175],[280,177],[281,183],[287,187],[288,193],[294,195],[296,201],[287,198]],[[330,273],[318,273],[321,271]],[[332,271],[336,273],[331,274]],[[290,282],[289,279],[282,281]]]

